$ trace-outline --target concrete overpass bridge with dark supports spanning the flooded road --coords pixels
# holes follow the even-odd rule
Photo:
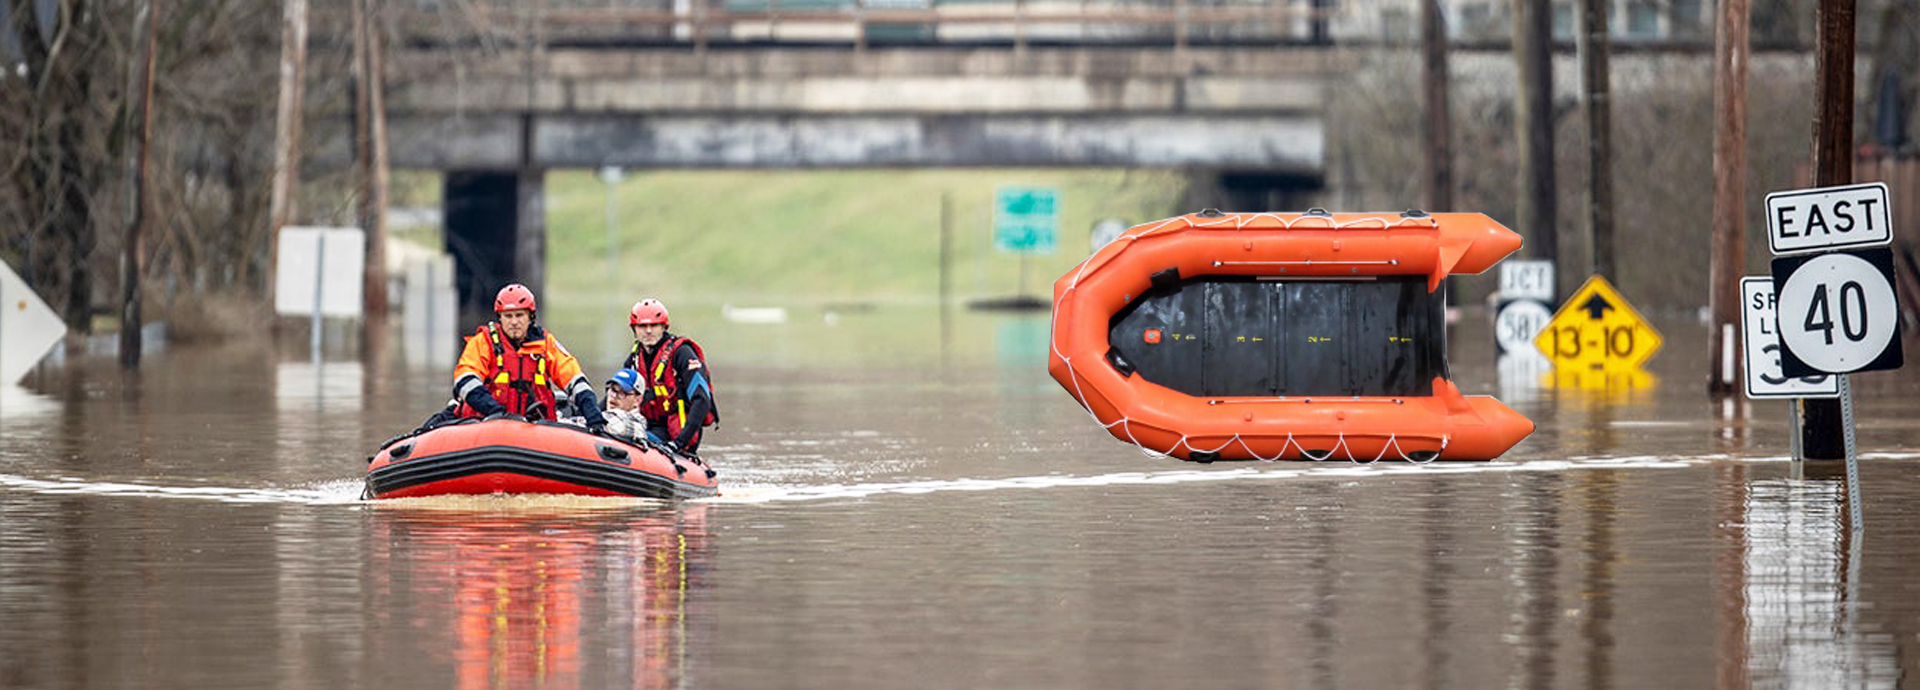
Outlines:
[[[605,2],[394,15],[392,163],[445,175],[468,309],[541,288],[549,169],[1179,167],[1284,204],[1344,69],[1329,0]]]

